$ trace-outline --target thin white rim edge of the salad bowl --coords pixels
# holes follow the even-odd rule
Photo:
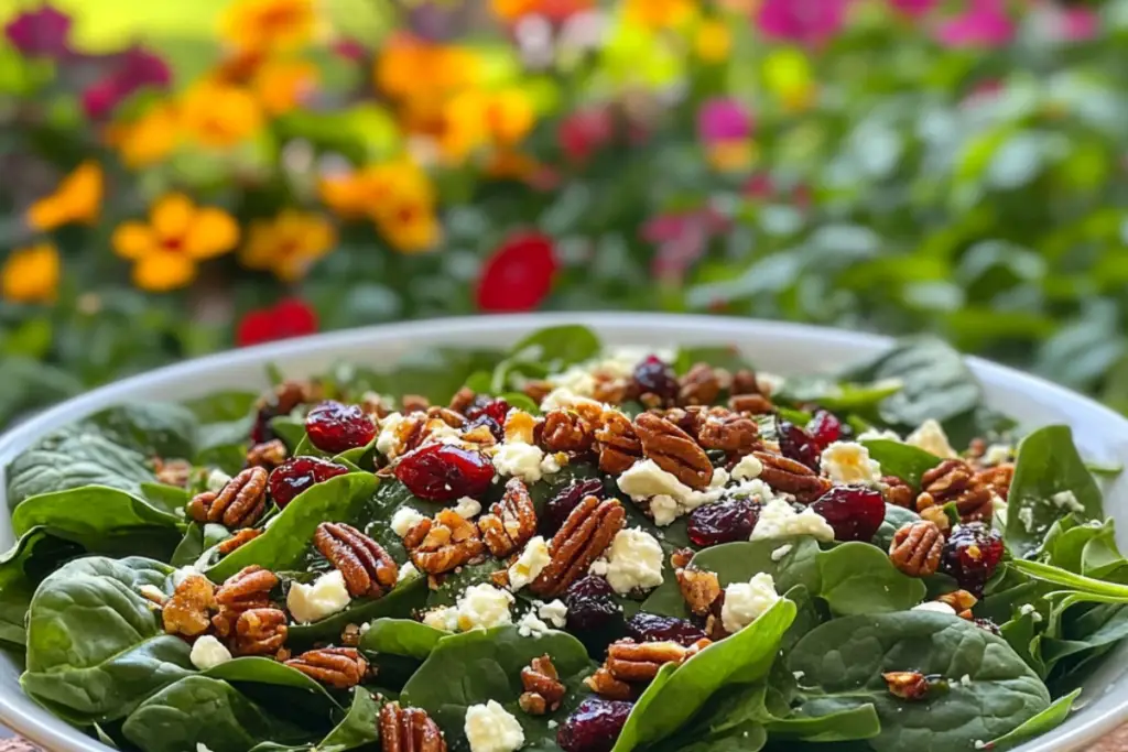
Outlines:
[[[746,336],[755,333],[759,336],[787,337],[794,339],[796,345],[816,345],[832,338],[841,344],[856,344],[861,348],[872,348],[889,346],[893,342],[893,337],[885,335],[754,318],[598,311],[448,317],[381,324],[297,337],[213,353],[111,382],[68,399],[12,427],[0,435],[0,506],[5,507],[5,513],[7,513],[5,472],[10,457],[15,452],[27,448],[33,441],[59,425],[74,421],[76,416],[86,416],[103,407],[126,401],[131,392],[139,387],[149,388],[155,383],[183,381],[196,374],[206,374],[208,371],[221,365],[249,366],[268,362],[284,363],[288,359],[296,356],[320,351],[343,350],[350,345],[373,346],[389,342],[409,343],[416,336],[455,342],[459,335],[474,335],[483,330],[511,334],[515,337],[543,327],[565,324],[589,326],[597,331],[600,327],[635,327],[642,328],[642,330],[650,329],[656,333],[655,336],[660,336],[661,330],[666,327],[678,327],[682,330],[699,329],[702,334],[708,334],[713,339],[717,338],[717,330],[722,330],[720,334],[732,339],[739,337],[743,330]],[[652,342],[653,339],[654,337],[651,338]],[[475,346],[473,338],[468,340],[467,346]],[[1117,431],[1128,435],[1128,418],[1085,395],[978,356],[964,355],[963,357],[977,375],[987,374],[997,379],[1007,379],[1037,390],[1048,398],[1083,406],[1101,418],[1111,422]],[[8,691],[0,691],[0,723],[45,750],[51,752],[112,752],[111,747],[85,735],[78,728],[69,726],[64,720],[51,715],[49,710],[36,707],[34,713],[25,714],[24,709],[17,707],[18,702],[34,705],[34,700],[26,695],[17,696]],[[1077,723],[1073,723],[1073,720]],[[1099,741],[1100,737],[1116,729],[1126,720],[1128,720],[1128,692],[1118,698],[1104,713],[1091,718],[1067,720],[1066,724],[1050,734],[1022,744],[1015,752],[1078,750],[1086,744]]]

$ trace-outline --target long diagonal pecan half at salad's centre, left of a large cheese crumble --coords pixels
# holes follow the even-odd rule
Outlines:
[[[588,496],[580,502],[548,543],[552,561],[529,589],[544,599],[559,596],[569,585],[588,573],[615,536],[623,530],[626,511],[616,498],[600,502]]]

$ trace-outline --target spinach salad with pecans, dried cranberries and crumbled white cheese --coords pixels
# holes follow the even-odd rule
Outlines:
[[[1005,750],[1128,634],[1118,470],[933,339],[779,378],[565,326],[272,375],[7,468],[0,642],[109,746]]]

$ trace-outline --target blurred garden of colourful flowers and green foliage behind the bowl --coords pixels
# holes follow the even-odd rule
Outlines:
[[[0,425],[317,330],[934,331],[1128,410],[1128,0],[0,2]]]

